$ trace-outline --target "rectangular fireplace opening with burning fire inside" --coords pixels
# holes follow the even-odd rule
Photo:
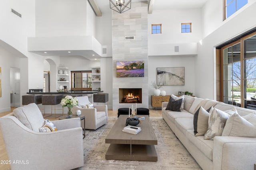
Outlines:
[[[142,103],[142,89],[120,88],[119,103]]]

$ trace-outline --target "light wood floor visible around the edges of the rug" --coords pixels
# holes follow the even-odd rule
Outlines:
[[[6,112],[0,113],[0,117],[11,113],[13,109],[15,109],[15,107],[11,108],[11,111],[6,111]],[[150,116],[152,116],[152,117],[161,117],[162,116],[161,109],[157,109],[157,110],[150,109],[149,112],[150,112]],[[46,114],[45,116],[48,116],[48,115],[50,115],[50,114]],[[112,111],[112,109],[109,109],[108,116],[117,116],[117,111]],[[58,120],[58,118],[50,118],[50,117],[48,117],[48,119],[49,120]],[[7,156],[7,152],[5,149],[2,133],[0,131],[0,161],[1,160],[8,160],[8,156]],[[8,170],[9,168],[10,168],[10,165],[8,165],[8,164],[0,164],[0,170]]]

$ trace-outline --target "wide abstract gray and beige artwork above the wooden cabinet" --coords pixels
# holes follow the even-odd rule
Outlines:
[[[158,67],[157,85],[182,86],[185,85],[185,67]]]

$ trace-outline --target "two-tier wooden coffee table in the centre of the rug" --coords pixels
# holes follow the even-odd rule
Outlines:
[[[157,145],[157,138],[148,115],[145,120],[138,124],[141,131],[137,135],[123,132],[126,127],[128,115],[120,115],[108,133],[105,143],[110,143],[106,152],[106,159],[114,160],[140,160],[157,161],[157,154],[154,145]]]

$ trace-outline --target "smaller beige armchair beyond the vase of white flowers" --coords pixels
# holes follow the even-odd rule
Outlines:
[[[94,105],[94,108],[84,108],[86,105],[91,104],[88,96],[76,97],[78,99],[78,106],[72,108],[72,112],[81,110],[85,117],[84,129],[98,129],[102,125],[108,123],[108,106],[107,105]]]

